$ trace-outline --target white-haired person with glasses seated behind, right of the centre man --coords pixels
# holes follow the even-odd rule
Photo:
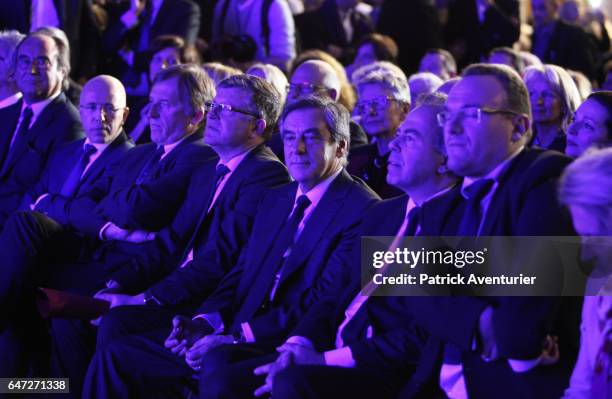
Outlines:
[[[410,110],[410,89],[403,73],[381,68],[367,73],[356,82],[359,101],[355,112],[359,123],[370,136],[372,144],[351,151],[347,170],[363,179],[381,198],[402,193],[387,184],[389,143]]]

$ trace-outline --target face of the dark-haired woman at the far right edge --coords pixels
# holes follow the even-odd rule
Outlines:
[[[612,115],[593,99],[583,102],[576,110],[572,123],[567,129],[565,153],[577,158],[590,147],[605,147],[610,143],[610,132],[606,122]]]

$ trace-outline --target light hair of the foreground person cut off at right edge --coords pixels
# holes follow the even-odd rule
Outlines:
[[[612,148],[589,150],[565,168],[559,201],[584,207],[604,223],[612,220]]]

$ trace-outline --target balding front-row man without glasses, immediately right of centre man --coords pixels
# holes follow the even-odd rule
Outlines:
[[[442,129],[436,123],[445,98],[427,97],[400,125],[390,143],[387,178],[405,194],[372,207],[364,215],[360,235],[414,235],[420,207],[456,184],[456,177],[446,167]],[[394,319],[402,319],[391,313],[377,314],[366,309],[368,296],[358,294],[360,246],[355,247],[351,283],[341,293],[330,293],[308,310],[279,348],[280,356],[270,354],[237,362],[230,356],[231,347],[214,349],[202,364],[200,397],[248,397],[263,384],[266,373],[267,383],[257,389],[257,396],[274,387],[273,397],[306,396],[305,390],[317,398],[395,397],[416,367],[422,339],[414,336],[414,344],[404,348],[394,345],[393,340],[399,341],[399,336],[411,339],[409,336],[418,329],[408,323],[393,324]],[[384,331],[378,328],[380,318],[386,319]],[[274,363],[263,365],[275,358]],[[296,366],[290,373],[299,377],[290,379],[278,374],[288,363]],[[256,366],[260,367],[254,375]]]

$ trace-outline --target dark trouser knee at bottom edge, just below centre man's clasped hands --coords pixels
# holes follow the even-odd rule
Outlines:
[[[265,383],[256,367],[274,362],[278,354],[258,344],[223,345],[206,354],[200,370],[200,399],[249,398]]]

